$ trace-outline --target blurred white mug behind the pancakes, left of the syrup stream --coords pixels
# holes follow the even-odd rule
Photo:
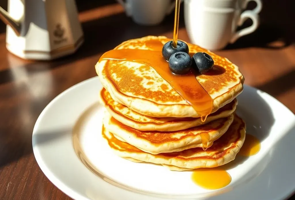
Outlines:
[[[175,0],[117,0],[127,16],[141,25],[155,25],[163,21],[175,8]]]

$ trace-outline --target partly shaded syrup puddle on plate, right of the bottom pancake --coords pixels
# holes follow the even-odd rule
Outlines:
[[[240,149],[238,155],[251,156],[258,153],[260,150],[260,141],[253,135],[246,134],[244,144]]]

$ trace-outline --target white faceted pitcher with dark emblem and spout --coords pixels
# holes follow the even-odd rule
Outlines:
[[[7,24],[6,48],[24,59],[68,55],[84,40],[74,0],[8,0],[0,18]]]

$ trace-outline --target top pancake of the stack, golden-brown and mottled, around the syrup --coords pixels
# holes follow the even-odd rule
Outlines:
[[[153,41],[165,44],[170,40],[164,36],[147,36],[123,42],[115,49],[160,51],[159,47],[153,45]],[[187,44],[190,54],[205,52],[214,60],[213,70],[196,76],[196,79],[212,98],[212,112],[216,112],[242,92],[244,77],[238,67],[227,58]],[[101,60],[96,63],[95,68],[112,99],[137,113],[151,117],[202,116],[149,65],[126,60]]]

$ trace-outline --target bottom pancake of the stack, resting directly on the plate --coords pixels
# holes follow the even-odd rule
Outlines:
[[[245,123],[234,115],[234,120],[227,130],[213,145],[204,151],[202,148],[191,148],[181,152],[146,153],[126,142],[117,140],[107,129],[103,128],[102,135],[109,146],[120,157],[132,161],[143,161],[171,166],[172,170],[183,171],[197,168],[213,168],[229,163],[235,159],[245,140]]]

